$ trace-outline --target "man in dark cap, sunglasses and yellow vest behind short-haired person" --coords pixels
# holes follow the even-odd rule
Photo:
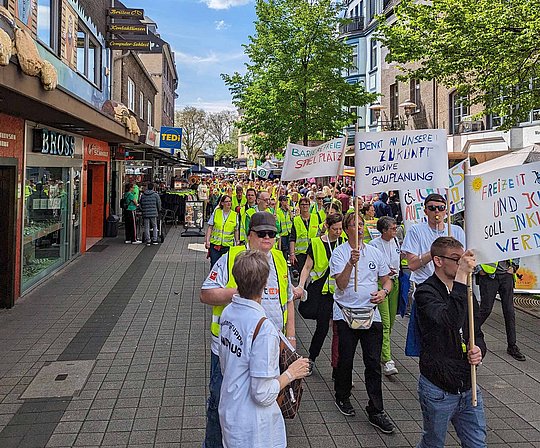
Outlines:
[[[212,353],[210,364],[210,396],[207,403],[206,448],[221,447],[221,428],[219,425],[218,406],[222,373],[219,365],[219,330],[223,309],[237,294],[237,283],[232,273],[234,260],[246,249],[260,250],[266,254],[270,265],[270,275],[264,289],[261,305],[266,317],[282,331],[289,342],[296,346],[294,293],[289,278],[287,262],[283,253],[274,248],[276,236],[276,218],[268,212],[256,212],[251,216],[247,247],[235,246],[223,255],[213,266],[201,288],[201,302],[211,305]]]

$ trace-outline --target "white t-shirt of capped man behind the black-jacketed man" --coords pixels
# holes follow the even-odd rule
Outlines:
[[[451,229],[452,236],[463,244],[463,247],[465,248],[465,232],[463,229],[455,224],[452,224]],[[433,241],[441,236],[448,236],[448,228],[446,225],[443,230],[434,230],[429,227],[427,222],[414,224],[405,234],[401,251],[419,256],[429,252]],[[430,261],[416,271],[411,272],[411,281],[416,284],[423,283],[431,277],[434,272],[435,267],[433,266],[433,262]]]

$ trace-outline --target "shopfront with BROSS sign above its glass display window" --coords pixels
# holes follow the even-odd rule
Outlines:
[[[81,252],[80,136],[26,122],[21,292]]]

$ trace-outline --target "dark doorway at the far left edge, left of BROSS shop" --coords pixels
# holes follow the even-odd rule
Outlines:
[[[15,303],[15,229],[17,165],[2,165],[0,161],[0,307]]]

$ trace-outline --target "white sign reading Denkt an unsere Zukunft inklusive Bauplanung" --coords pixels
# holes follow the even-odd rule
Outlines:
[[[448,187],[444,129],[359,132],[355,142],[358,194]]]

